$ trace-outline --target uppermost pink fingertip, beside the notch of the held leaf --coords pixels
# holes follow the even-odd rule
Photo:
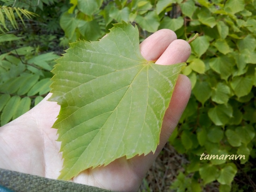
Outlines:
[[[140,44],[141,55],[148,61],[157,60],[171,42],[177,39],[170,29],[161,29]]]

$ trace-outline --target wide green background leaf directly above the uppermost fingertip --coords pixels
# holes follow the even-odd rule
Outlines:
[[[180,29],[184,25],[184,19],[182,17],[178,17],[177,19],[170,19],[168,17],[164,17],[161,21],[159,29],[171,29],[176,31]]]

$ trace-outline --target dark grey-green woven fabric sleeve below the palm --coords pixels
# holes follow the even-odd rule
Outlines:
[[[0,192],[4,190],[15,192],[110,192],[98,187],[0,169]]]

